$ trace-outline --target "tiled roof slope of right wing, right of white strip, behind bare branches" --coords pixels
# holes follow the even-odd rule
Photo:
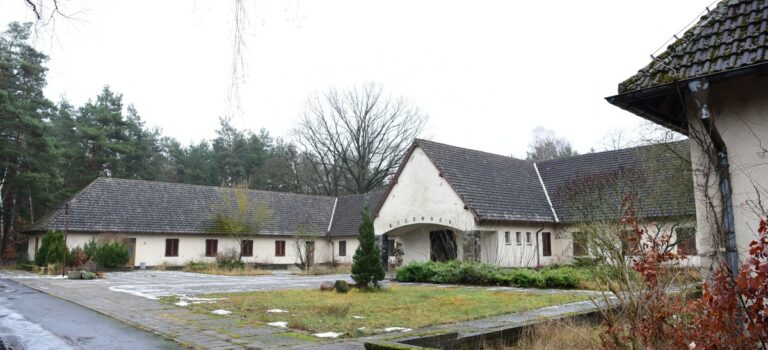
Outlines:
[[[537,163],[563,222],[618,219],[625,194],[641,217],[695,214],[687,141]]]

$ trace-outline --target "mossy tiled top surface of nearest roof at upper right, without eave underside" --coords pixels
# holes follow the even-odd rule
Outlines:
[[[768,0],[723,0],[619,93],[768,63]]]

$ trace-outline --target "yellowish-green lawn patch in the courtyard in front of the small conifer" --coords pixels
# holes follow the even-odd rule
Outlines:
[[[294,330],[339,332],[348,337],[383,333],[387,327],[415,329],[587,299],[585,295],[567,292],[533,294],[431,286],[391,286],[377,291],[353,289],[346,294],[286,290],[205,297],[227,299],[191,308],[201,313],[214,309],[232,311],[244,326],[285,321]],[[289,313],[267,313],[269,309]]]

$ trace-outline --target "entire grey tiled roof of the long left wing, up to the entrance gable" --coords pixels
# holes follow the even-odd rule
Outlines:
[[[30,231],[63,230],[66,223],[69,231],[208,234],[213,228],[215,214],[224,203],[224,190],[211,186],[99,178],[68,202],[69,215],[65,215],[63,207],[59,208]],[[260,234],[293,234],[297,227],[304,226],[309,234],[324,235],[332,226],[334,197],[249,190],[248,198],[252,204],[263,203],[270,210],[271,220]],[[251,205],[251,211],[255,207]],[[359,218],[359,209],[357,211]],[[253,213],[250,214],[252,217]],[[357,233],[356,227],[346,232],[347,226],[336,226],[339,227],[336,234]]]

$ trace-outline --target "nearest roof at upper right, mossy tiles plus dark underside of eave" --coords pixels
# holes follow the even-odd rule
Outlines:
[[[608,102],[688,134],[681,92],[710,83],[768,73],[768,2],[723,0],[637,74]]]

